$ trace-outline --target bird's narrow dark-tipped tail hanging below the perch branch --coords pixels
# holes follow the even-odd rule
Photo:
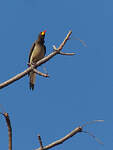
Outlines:
[[[36,80],[36,73],[31,71],[29,73],[29,88],[30,88],[30,90],[34,89],[35,80]]]

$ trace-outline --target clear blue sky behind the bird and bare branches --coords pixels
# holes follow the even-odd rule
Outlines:
[[[39,133],[43,144],[49,144],[95,119],[105,122],[84,130],[94,133],[104,146],[81,133],[54,149],[113,147],[112,6],[112,0],[0,1],[0,83],[27,68],[31,45],[40,31],[47,30],[47,54],[52,52],[52,45],[59,46],[70,29],[72,40],[63,50],[80,53],[56,56],[43,65],[51,77],[37,76],[33,92],[28,76],[0,90],[0,105],[11,118],[13,149],[38,148]],[[74,37],[84,40],[88,47]],[[7,146],[7,127],[0,117],[0,149]]]

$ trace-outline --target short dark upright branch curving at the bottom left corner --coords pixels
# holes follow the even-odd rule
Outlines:
[[[12,150],[12,128],[11,128],[11,122],[8,113],[1,113],[6,120],[7,127],[8,127],[8,137],[9,137],[9,150]]]

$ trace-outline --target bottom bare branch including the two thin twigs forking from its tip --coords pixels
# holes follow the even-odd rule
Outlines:
[[[53,142],[53,143],[51,143],[51,144],[49,144],[49,145],[47,145],[47,146],[43,146],[43,150],[47,150],[47,149],[50,149],[50,148],[52,148],[52,147],[55,147],[55,146],[57,146],[57,145],[62,144],[63,142],[65,142],[66,140],[70,139],[72,136],[76,135],[76,134],[79,133],[79,132],[87,133],[87,134],[89,134],[90,136],[92,136],[93,138],[95,138],[96,141],[98,141],[98,143],[102,143],[102,142],[100,142],[94,135],[91,135],[88,131],[83,131],[83,127],[85,127],[87,124],[90,124],[90,123],[92,124],[92,123],[95,123],[95,122],[102,122],[102,121],[103,121],[103,120],[94,120],[94,121],[91,121],[91,122],[87,122],[86,124],[75,128],[73,131],[71,131],[69,134],[67,134],[67,135],[64,136],[63,138],[61,138],[61,139],[59,139],[59,140],[57,140],[57,141],[55,141],[55,142]],[[39,140],[39,142],[40,142],[40,140]],[[40,144],[40,145],[41,145],[41,144]],[[41,146],[40,146],[40,148],[38,148],[38,149],[36,149],[36,150],[42,150],[42,149],[41,149]]]

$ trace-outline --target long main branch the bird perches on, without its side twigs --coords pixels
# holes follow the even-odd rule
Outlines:
[[[0,84],[0,89],[8,86],[9,84],[19,80],[20,78],[24,77],[25,75],[27,75],[30,71],[32,71],[34,68],[44,64],[45,62],[47,62],[48,60],[50,60],[52,57],[54,57],[55,55],[59,54],[59,52],[62,50],[62,48],[64,47],[64,45],[66,44],[67,40],[69,39],[70,35],[71,35],[72,31],[69,31],[69,33],[67,34],[67,36],[65,37],[64,41],[61,43],[61,45],[59,46],[59,48],[57,48],[57,51],[54,51],[52,53],[50,53],[48,56],[44,57],[43,59],[41,59],[40,61],[38,61],[35,65],[30,66],[29,68],[27,68],[25,71],[17,74],[16,76],[12,77],[11,79],[3,82]]]

